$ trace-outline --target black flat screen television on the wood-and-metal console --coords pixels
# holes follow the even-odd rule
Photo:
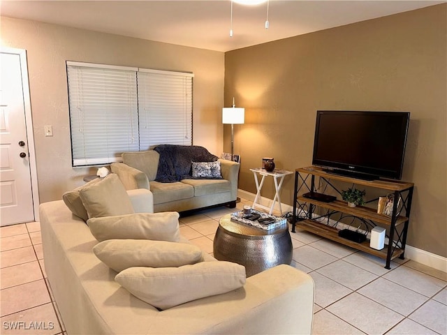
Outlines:
[[[401,179],[409,112],[318,110],[312,164],[360,179]]]

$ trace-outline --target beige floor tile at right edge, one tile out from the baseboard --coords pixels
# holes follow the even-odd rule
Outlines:
[[[447,283],[441,279],[434,278],[420,271],[411,269],[404,265],[388,271],[383,278],[393,281],[399,285],[416,291],[426,297],[433,297],[437,292],[444,288]]]

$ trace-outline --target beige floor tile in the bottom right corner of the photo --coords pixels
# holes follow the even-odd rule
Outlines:
[[[447,334],[447,306],[438,301],[427,301],[409,316],[413,321],[439,334]]]

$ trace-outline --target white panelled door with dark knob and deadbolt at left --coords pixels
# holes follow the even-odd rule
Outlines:
[[[20,54],[1,52],[0,225],[34,221],[31,165]],[[34,158],[34,157],[33,157]]]

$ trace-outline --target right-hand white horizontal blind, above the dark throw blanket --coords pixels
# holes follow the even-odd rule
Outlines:
[[[140,150],[192,144],[193,74],[139,69]]]

